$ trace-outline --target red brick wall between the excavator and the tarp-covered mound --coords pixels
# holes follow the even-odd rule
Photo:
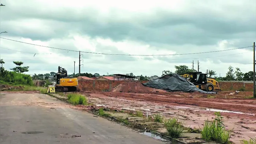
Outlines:
[[[106,91],[117,85],[125,82],[140,82],[146,83],[148,81],[100,81],[100,80],[80,80],[79,88],[83,91]]]

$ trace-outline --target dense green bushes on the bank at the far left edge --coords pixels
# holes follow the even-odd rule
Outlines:
[[[0,81],[9,85],[29,85],[33,86],[32,78],[29,75],[18,74],[14,71],[7,71],[1,68]]]

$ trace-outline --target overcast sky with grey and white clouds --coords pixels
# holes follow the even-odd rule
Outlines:
[[[225,76],[228,66],[253,70],[256,41],[255,0],[81,1],[1,0],[1,58],[29,66],[26,74],[161,75],[187,65]],[[12,41],[16,40],[16,41]],[[25,43],[21,43],[21,42]],[[48,47],[42,47],[42,46]],[[227,50],[220,52],[209,52]],[[123,54],[106,55],[85,52]],[[200,53],[209,52],[209,53]],[[36,54],[35,54],[36,53]],[[200,53],[200,54],[184,54]],[[35,54],[35,55],[34,55]],[[127,55],[125,55],[127,54]],[[130,54],[130,55],[129,55]],[[133,56],[184,54],[167,56]]]

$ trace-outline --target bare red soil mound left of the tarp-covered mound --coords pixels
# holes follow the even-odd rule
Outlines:
[[[123,92],[123,93],[152,93],[152,92],[166,92],[164,90],[154,89],[150,87],[145,87],[141,83],[128,82],[121,83],[112,89],[112,92]]]

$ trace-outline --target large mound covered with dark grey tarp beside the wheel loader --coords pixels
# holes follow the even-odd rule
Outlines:
[[[170,73],[163,75],[162,77],[142,84],[144,86],[161,89],[168,92],[200,92],[205,94],[216,94],[216,92],[206,92],[197,88],[194,84],[187,81],[186,78],[181,77],[178,74]]]

